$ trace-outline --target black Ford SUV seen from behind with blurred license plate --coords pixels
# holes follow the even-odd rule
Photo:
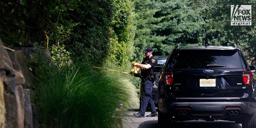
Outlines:
[[[176,46],[158,82],[158,124],[228,120],[256,128],[256,90],[239,48]]]

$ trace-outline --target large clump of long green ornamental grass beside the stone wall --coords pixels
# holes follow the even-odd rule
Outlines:
[[[138,107],[129,74],[45,64],[38,69],[33,98],[40,128],[119,127],[124,108]]]

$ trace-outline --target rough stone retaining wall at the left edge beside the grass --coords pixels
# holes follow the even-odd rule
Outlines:
[[[29,88],[34,85],[27,58],[34,51],[12,50],[0,39],[0,128],[33,128]]]

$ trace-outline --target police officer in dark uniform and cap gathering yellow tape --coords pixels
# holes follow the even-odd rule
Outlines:
[[[153,76],[153,68],[157,65],[157,60],[152,55],[152,47],[146,47],[143,51],[145,53],[146,58],[142,61],[141,64],[134,63],[133,66],[139,66],[141,68],[141,79],[143,84],[143,93],[142,93],[142,101],[141,101],[141,108],[138,113],[134,113],[133,115],[135,117],[144,117],[146,107],[148,106],[148,103],[150,103],[151,106],[151,114],[147,115],[147,117],[156,117],[156,107],[152,100],[152,88],[153,88],[153,82],[154,82],[154,76]]]

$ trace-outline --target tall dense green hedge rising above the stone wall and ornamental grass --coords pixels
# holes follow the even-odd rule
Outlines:
[[[131,5],[130,0],[1,1],[0,37],[9,47],[38,42],[55,61],[107,59],[124,66],[132,47]]]

